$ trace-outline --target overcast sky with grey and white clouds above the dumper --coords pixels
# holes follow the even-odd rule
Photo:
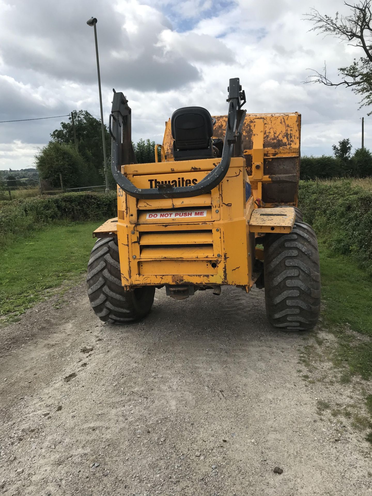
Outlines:
[[[132,108],[132,138],[161,141],[183,106],[227,112],[230,77],[240,77],[248,113],[302,114],[302,154],[361,143],[358,98],[348,89],[303,84],[308,67],[330,76],[360,52],[309,32],[314,6],[348,12],[341,0],[0,0],[0,121],[87,110],[99,118],[93,28],[98,19],[104,121],[112,88]],[[346,10],[345,10],[346,9]],[[0,124],[0,169],[32,167],[62,119]],[[372,148],[371,119],[365,144]]]

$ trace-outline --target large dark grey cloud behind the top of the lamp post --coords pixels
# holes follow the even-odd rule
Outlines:
[[[103,84],[166,91],[200,77],[186,58],[179,55],[164,58],[163,50],[156,46],[156,29],[171,27],[165,17],[162,26],[152,25],[150,19],[139,25],[133,44],[123,28],[125,16],[109,3],[98,0],[15,1],[14,8],[5,12],[2,19],[0,41],[4,63],[59,80],[94,84],[97,78],[94,35],[93,29],[86,25],[90,15],[98,18]],[[114,52],[123,55],[118,58]]]

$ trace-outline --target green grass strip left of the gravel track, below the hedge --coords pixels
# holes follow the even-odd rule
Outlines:
[[[9,245],[1,254],[0,315],[18,315],[68,286],[86,271],[95,222],[53,224]]]

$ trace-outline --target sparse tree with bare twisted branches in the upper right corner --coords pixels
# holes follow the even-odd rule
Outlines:
[[[350,7],[351,14],[347,16],[339,15],[336,12],[334,18],[320,14],[315,8],[310,9],[309,14],[305,14],[307,19],[314,23],[310,31],[317,34],[332,35],[349,45],[361,49],[362,56],[359,60],[345,67],[339,67],[341,80],[331,81],[327,76],[327,68],[324,63],[323,72],[314,71],[306,82],[322,83],[326,86],[346,86],[361,96],[361,107],[368,107],[372,104],[372,11],[371,0],[362,0],[356,4],[346,1],[345,5]],[[370,116],[372,111],[368,113]]]

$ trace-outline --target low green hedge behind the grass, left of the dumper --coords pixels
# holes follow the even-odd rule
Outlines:
[[[117,215],[116,191],[81,192],[0,201],[0,247],[58,220],[99,220]]]

